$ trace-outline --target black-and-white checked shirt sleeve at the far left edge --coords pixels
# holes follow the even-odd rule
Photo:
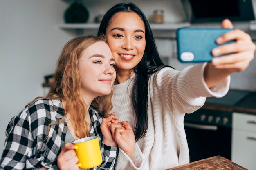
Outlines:
[[[9,122],[8,135],[0,162],[1,168],[24,169],[26,167],[27,155],[33,143],[30,125],[29,116],[25,111]]]

